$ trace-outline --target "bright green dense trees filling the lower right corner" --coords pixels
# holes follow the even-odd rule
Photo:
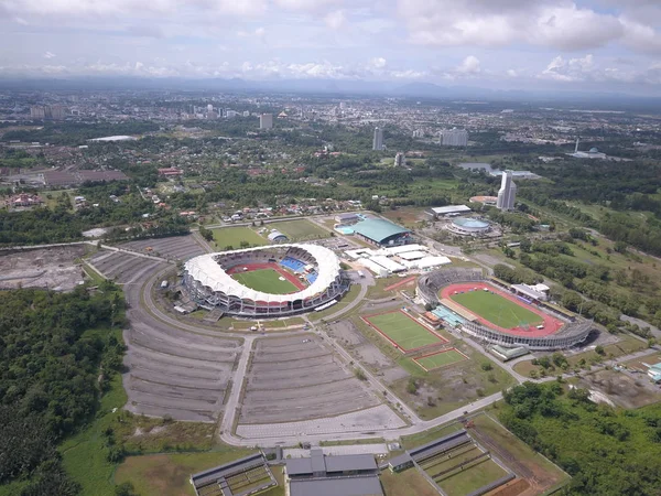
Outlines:
[[[524,382],[505,392],[500,421],[570,475],[574,496],[652,496],[661,487],[661,406],[615,410],[585,389]]]

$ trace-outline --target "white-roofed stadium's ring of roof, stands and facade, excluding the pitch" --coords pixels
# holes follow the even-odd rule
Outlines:
[[[286,263],[286,265],[285,265]],[[237,267],[282,265],[315,274],[310,285],[289,294],[272,294],[241,284],[228,273]],[[303,270],[301,270],[303,273]],[[183,285],[203,308],[243,317],[275,319],[333,304],[349,289],[337,256],[317,245],[284,244],[207,254],[184,265]]]

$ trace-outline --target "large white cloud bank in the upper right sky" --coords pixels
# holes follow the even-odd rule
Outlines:
[[[506,46],[525,43],[578,51],[624,41],[659,44],[652,25],[581,8],[571,0],[398,0],[410,40],[422,45]]]

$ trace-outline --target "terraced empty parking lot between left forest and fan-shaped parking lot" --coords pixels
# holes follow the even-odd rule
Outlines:
[[[124,341],[129,410],[175,420],[217,418],[237,359],[237,342],[143,322],[133,322]]]

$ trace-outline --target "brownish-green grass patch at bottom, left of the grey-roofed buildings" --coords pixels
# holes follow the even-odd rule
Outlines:
[[[167,453],[144,456],[129,456],[117,468],[117,484],[130,482],[136,493],[143,496],[195,496],[195,489],[188,482],[191,474],[212,468],[216,465],[248,456],[253,451],[219,448],[206,453]],[[95,490],[84,494],[100,494]],[[112,494],[112,493],[110,493]]]

